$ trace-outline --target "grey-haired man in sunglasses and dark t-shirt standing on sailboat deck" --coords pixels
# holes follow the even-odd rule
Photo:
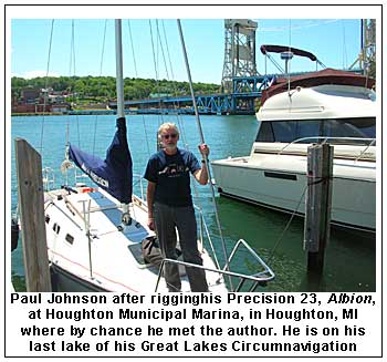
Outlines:
[[[195,155],[177,147],[179,131],[174,123],[164,123],[158,130],[163,149],[153,155],[146,167],[148,180],[148,227],[156,230],[163,257],[176,259],[176,229],[179,232],[182,258],[186,262],[202,265],[197,245],[197,224],[192,206],[189,173],[206,185],[208,173]],[[201,155],[209,155],[206,144],[199,146]],[[208,291],[205,270],[186,267],[191,291]],[[169,291],[180,291],[178,265],[165,265],[165,279]]]

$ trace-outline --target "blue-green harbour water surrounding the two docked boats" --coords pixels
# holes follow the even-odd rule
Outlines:
[[[134,159],[134,174],[144,174],[148,159],[148,146],[156,149],[156,133],[163,122],[180,123],[188,148],[197,154],[200,143],[195,116],[134,115],[127,117],[128,142]],[[250,153],[258,123],[254,116],[202,116],[201,123],[206,142],[211,153],[210,159],[228,156],[243,156]],[[144,127],[145,124],[145,127]],[[64,183],[60,165],[64,159],[64,145],[69,138],[85,151],[104,157],[115,132],[115,117],[103,116],[45,116],[12,117],[12,175],[11,207],[17,207],[17,178],[14,168],[13,139],[27,139],[35,149],[43,146],[43,167],[55,170],[56,186]],[[145,130],[145,131],[144,131]],[[180,137],[181,139],[181,137]],[[184,147],[180,142],[180,147]],[[139,184],[134,187],[139,193]],[[197,186],[199,197],[195,197],[206,215],[219,260],[222,248],[217,231],[211,193],[208,186]],[[294,218],[281,238],[290,216],[217,195],[223,238],[228,249],[240,238],[247,240],[261,257],[269,260],[276,278],[265,287],[265,291],[375,291],[376,247],[375,238],[344,230],[332,230],[325,255],[324,276],[321,283],[311,286],[306,278],[306,259],[303,251],[303,220]],[[274,248],[275,246],[275,248]],[[236,271],[249,271],[251,265],[244,257],[232,265]],[[12,273],[23,276],[22,250],[12,252]]]

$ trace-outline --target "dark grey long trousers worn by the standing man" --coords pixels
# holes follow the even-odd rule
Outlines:
[[[198,250],[197,224],[194,207],[174,207],[155,203],[154,216],[156,232],[160,242],[163,257],[168,259],[177,259],[177,229],[179,232],[179,241],[184,261],[201,266],[202,259]],[[203,269],[186,267],[186,270],[191,291],[208,291]],[[165,265],[164,276],[169,291],[179,291],[181,289],[178,265],[167,262]]]

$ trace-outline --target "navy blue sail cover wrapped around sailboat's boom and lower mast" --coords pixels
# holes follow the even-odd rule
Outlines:
[[[126,138],[125,117],[117,118],[117,132],[106,152],[106,159],[90,155],[70,145],[69,157],[94,183],[114,196],[118,201],[132,201],[132,156]]]

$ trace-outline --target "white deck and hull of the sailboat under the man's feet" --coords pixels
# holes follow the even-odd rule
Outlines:
[[[88,203],[90,239],[82,206]],[[103,190],[46,193],[46,241],[56,291],[167,291],[163,277],[156,288],[159,268],[145,263],[142,256],[142,240],[154,236],[146,226],[146,205],[135,198],[130,215],[132,224],[123,227],[121,205]],[[203,267],[216,269],[206,250],[201,256]],[[219,273],[207,272],[207,280],[211,291],[227,291]],[[181,283],[181,291],[190,290],[184,270]]]

